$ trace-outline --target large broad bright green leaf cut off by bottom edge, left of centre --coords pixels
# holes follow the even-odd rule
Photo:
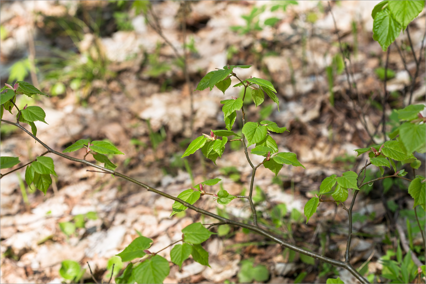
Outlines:
[[[133,268],[132,278],[136,283],[163,283],[169,273],[169,261],[162,256],[154,255]]]

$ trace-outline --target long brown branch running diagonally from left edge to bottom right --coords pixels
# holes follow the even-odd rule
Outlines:
[[[195,212],[198,212],[198,213],[204,214],[206,216],[215,218],[216,220],[219,220],[219,221],[222,221],[222,222],[226,222],[227,224],[230,224],[230,225],[233,225],[233,226],[239,226],[239,227],[242,227],[242,228],[249,229],[249,230],[251,230],[253,232],[256,232],[256,233],[259,233],[260,235],[263,235],[266,238],[271,239],[272,241],[274,241],[276,243],[279,243],[283,247],[286,247],[286,248],[289,248],[291,250],[294,250],[295,252],[299,252],[299,253],[302,253],[304,255],[308,255],[308,256],[310,256],[312,258],[319,259],[320,261],[324,261],[324,262],[327,262],[329,264],[332,264],[332,265],[335,265],[335,266],[338,266],[338,267],[343,267],[346,270],[348,270],[352,275],[354,275],[361,283],[365,283],[365,284],[369,283],[362,275],[360,275],[360,273],[350,263],[339,261],[339,260],[335,260],[333,258],[328,258],[328,257],[326,257],[324,255],[319,254],[319,253],[311,252],[311,251],[309,251],[307,249],[303,249],[303,248],[301,248],[299,246],[295,246],[292,243],[288,243],[288,242],[282,240],[281,238],[278,238],[275,235],[273,235],[273,234],[271,234],[269,232],[266,232],[264,229],[259,228],[258,226],[253,226],[253,225],[250,225],[250,224],[241,223],[241,222],[238,222],[238,221],[235,221],[235,220],[227,219],[225,217],[222,217],[222,216],[219,216],[217,214],[211,213],[211,212],[206,211],[204,209],[201,209],[199,207],[193,206],[192,204],[187,203],[186,201],[181,200],[180,198],[174,197],[174,196],[172,196],[170,194],[167,194],[167,193],[165,193],[163,191],[159,191],[158,189],[152,188],[149,185],[141,183],[141,182],[139,182],[139,181],[137,181],[135,179],[132,179],[131,177],[128,177],[128,176],[126,176],[124,174],[121,174],[121,173],[119,173],[117,171],[112,171],[110,169],[104,168],[104,167],[102,167],[100,165],[96,165],[96,164],[88,162],[86,160],[77,159],[77,158],[65,155],[63,153],[60,153],[58,151],[55,151],[52,148],[50,148],[48,145],[46,145],[44,142],[42,142],[40,139],[38,139],[36,136],[34,136],[31,132],[29,132],[28,130],[26,130],[26,128],[24,128],[22,125],[14,123],[14,122],[10,122],[8,120],[4,120],[4,119],[0,119],[0,121],[8,123],[10,125],[14,125],[14,126],[20,128],[21,130],[23,130],[24,132],[26,132],[29,136],[31,136],[33,139],[35,139],[37,142],[39,142],[44,148],[46,148],[49,151],[49,153],[53,153],[55,155],[61,156],[61,157],[65,158],[65,159],[69,159],[69,160],[74,161],[74,162],[80,162],[82,164],[89,165],[89,166],[91,166],[93,168],[97,168],[99,170],[105,171],[105,172],[107,172],[109,174],[112,174],[112,175],[114,175],[116,177],[121,177],[124,180],[130,181],[131,183],[135,183],[136,185],[139,185],[139,186],[147,189],[148,191],[151,191],[151,192],[154,192],[154,193],[159,194],[161,196],[167,197],[167,198],[169,198],[171,200],[175,200],[178,203],[181,203],[182,205],[190,208],[191,210],[194,210]]]

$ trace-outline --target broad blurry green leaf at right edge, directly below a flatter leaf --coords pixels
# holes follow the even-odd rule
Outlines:
[[[400,145],[406,154],[412,154],[418,148],[425,146],[426,124],[405,122],[399,127],[399,130]]]

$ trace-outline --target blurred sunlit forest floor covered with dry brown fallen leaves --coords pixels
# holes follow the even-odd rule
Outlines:
[[[135,15],[134,9],[126,10],[130,11],[129,18],[122,20],[112,17],[118,4],[111,1],[1,1],[1,83],[7,81],[9,73],[5,70],[13,63],[32,56],[36,59],[39,70],[32,83],[45,93],[57,95],[35,100],[18,98],[17,105],[43,107],[48,124],[36,122],[37,137],[57,151],[78,139],[107,139],[125,154],[112,159],[118,165],[116,170],[158,190],[177,196],[194,184],[219,177],[221,183],[204,189],[217,193],[223,186],[230,194],[241,194],[250,185],[252,169],[238,143],[226,148],[217,165],[198,153],[185,158],[187,163],[180,156],[191,136],[224,129],[220,101],[241,96],[238,87],[228,89],[225,95],[216,88],[191,92],[202,76],[227,64],[252,65],[234,72],[240,78],[252,75],[272,81],[280,104],[278,110],[268,98],[256,108],[248,101],[246,121],[268,118],[290,130],[273,137],[280,151],[296,153],[305,166],[304,169],[284,165],[276,178],[268,169],[259,168],[255,186],[256,209],[262,212],[261,226],[291,243],[343,260],[347,212],[342,206],[324,202],[306,224],[303,208],[319,191],[325,177],[339,176],[348,170],[358,172],[365,165],[368,156],[357,157],[354,151],[369,146],[364,125],[371,133],[376,129],[381,132],[384,86],[380,68],[385,66],[386,52],[372,39],[371,19],[371,10],[378,2],[331,3],[341,41],[350,54],[350,61],[346,61],[350,63],[348,69],[356,81],[358,95],[347,84],[327,1],[299,1],[298,5],[288,5],[286,11],[281,7],[274,12],[271,7],[275,1],[191,1],[187,12],[182,12],[179,1],[154,1],[153,9],[164,37],[179,54],[184,51],[182,23],[186,23],[189,85],[173,48],[145,23],[144,17]],[[241,33],[242,29],[230,28],[245,26],[241,16],[262,6],[265,11],[252,22],[259,19],[262,30],[255,30],[254,24],[246,34]],[[99,14],[102,24],[94,32],[93,23]],[[78,17],[83,19],[83,24],[78,22],[80,26],[70,20]],[[271,17],[279,21],[273,26],[264,25]],[[125,30],[129,23],[133,30]],[[73,24],[78,28],[72,28]],[[425,33],[424,11],[409,28],[418,56]],[[78,37],[64,32],[72,29],[81,29],[83,36],[76,40]],[[407,34],[401,34],[397,42],[404,47],[406,67],[414,74],[416,66],[406,46]],[[61,69],[58,58],[64,64]],[[43,65],[46,62],[50,65]],[[334,73],[331,88],[328,67]],[[391,108],[406,104],[411,86],[394,45],[390,47],[388,68],[393,71],[393,78],[386,84],[390,93],[386,114],[390,115]],[[31,72],[26,80],[31,81]],[[233,79],[233,84],[237,83]],[[414,84],[414,101],[424,104],[425,92],[423,60]],[[360,109],[365,114],[362,120]],[[13,121],[15,115],[5,112],[3,119]],[[241,129],[238,119],[241,118],[237,117],[236,132]],[[5,124],[1,125],[1,136],[2,156],[19,156],[26,163],[45,151],[25,133]],[[377,136],[376,140],[379,144],[383,137]],[[81,150],[69,154],[82,158],[85,153]],[[25,169],[1,179],[1,283],[61,283],[59,269],[67,259],[78,261],[83,268],[88,268],[88,262],[95,277],[107,282],[107,261],[135,239],[138,232],[153,239],[150,251],[155,252],[181,239],[181,229],[190,223],[214,223],[213,219],[190,210],[169,217],[173,200],[109,174],[86,171],[88,167],[76,162],[48,156],[55,161],[58,177],[54,177],[46,195],[24,185]],[[253,163],[263,159],[251,154],[250,158]],[[424,173],[425,156],[417,158],[422,162],[418,171]],[[389,168],[386,171],[393,174]],[[369,172],[367,178],[376,174]],[[364,264],[369,273],[380,274],[379,258],[397,242],[395,222],[405,227],[408,216],[404,212],[413,205],[406,186],[395,182],[386,194],[383,186],[376,183],[361,189],[354,206],[354,267]],[[350,201],[351,192],[346,207]],[[287,212],[278,224],[271,220],[277,204],[285,204]],[[389,208],[389,204],[396,207]],[[195,205],[228,214],[235,220],[250,218],[250,206],[244,199],[222,206],[205,195]],[[88,212],[96,212],[97,217],[86,218],[83,227],[72,235],[67,236],[60,229],[59,223],[75,223],[75,216]],[[417,226],[415,221],[412,226]],[[241,261],[247,259],[267,267],[267,283],[294,283],[302,272],[306,272],[302,283],[325,283],[328,277],[336,275],[345,283],[357,283],[343,269],[283,251],[260,235],[233,227],[221,230],[220,235],[213,235],[203,244],[209,252],[210,267],[190,258],[181,270],[171,265],[164,283],[235,283],[239,281]],[[421,243],[420,235],[416,235],[414,245]],[[170,260],[170,249],[162,250],[160,255]],[[83,280],[92,281],[88,269]]]

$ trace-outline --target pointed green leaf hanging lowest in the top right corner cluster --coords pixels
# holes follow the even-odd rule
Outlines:
[[[373,32],[373,39],[378,41],[385,51],[400,34],[401,25],[392,17],[388,9],[383,9],[374,17]]]

